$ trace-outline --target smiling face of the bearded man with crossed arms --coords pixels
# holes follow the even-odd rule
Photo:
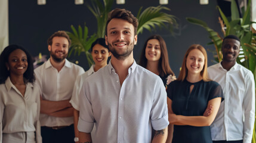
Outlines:
[[[64,37],[54,37],[53,44],[48,45],[48,51],[50,51],[51,58],[57,63],[65,60],[67,52],[69,51],[69,41]]]

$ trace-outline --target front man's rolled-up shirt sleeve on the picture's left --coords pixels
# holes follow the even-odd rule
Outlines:
[[[80,114],[78,120],[78,130],[80,132],[90,133],[94,126],[94,116],[92,113],[92,107],[90,102],[90,95],[86,95],[86,83],[82,86],[79,96],[81,97]]]

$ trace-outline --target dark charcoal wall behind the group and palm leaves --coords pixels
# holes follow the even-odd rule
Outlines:
[[[89,1],[89,0],[85,0]],[[141,6],[143,9],[149,6],[158,6],[159,1],[126,0],[125,5],[113,4],[113,8],[126,8],[137,15]],[[178,75],[186,49],[193,43],[199,43],[206,49],[214,50],[214,46],[206,43],[211,40],[208,33],[200,26],[190,24],[186,17],[195,17],[206,21],[209,27],[217,32],[220,31],[218,24],[218,11],[216,10],[217,1],[209,1],[208,5],[200,5],[199,0],[169,0],[165,5],[171,8],[167,13],[178,18],[180,29],[175,30],[172,36],[165,29],[150,33],[144,30],[143,34],[138,35],[138,43],[134,47],[134,58],[138,61],[144,41],[152,34],[161,35],[168,46],[169,63],[175,74]],[[75,5],[74,0],[47,0],[46,5],[37,5],[36,0],[9,0],[9,31],[10,44],[16,43],[29,49],[33,56],[48,54],[47,39],[57,30],[71,31],[70,25],[77,27],[79,24],[89,27],[89,33],[97,31],[97,22],[88,8],[84,5]],[[208,64],[213,60],[212,53],[208,52]],[[79,65],[88,70],[88,65],[84,54],[72,56],[70,61],[79,61]]]

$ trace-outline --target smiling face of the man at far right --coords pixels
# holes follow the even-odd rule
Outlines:
[[[239,55],[240,42],[236,39],[225,39],[221,48],[223,61],[235,63]]]

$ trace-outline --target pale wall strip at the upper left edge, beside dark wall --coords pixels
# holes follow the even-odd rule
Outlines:
[[[0,52],[9,45],[8,0],[0,0]]]

